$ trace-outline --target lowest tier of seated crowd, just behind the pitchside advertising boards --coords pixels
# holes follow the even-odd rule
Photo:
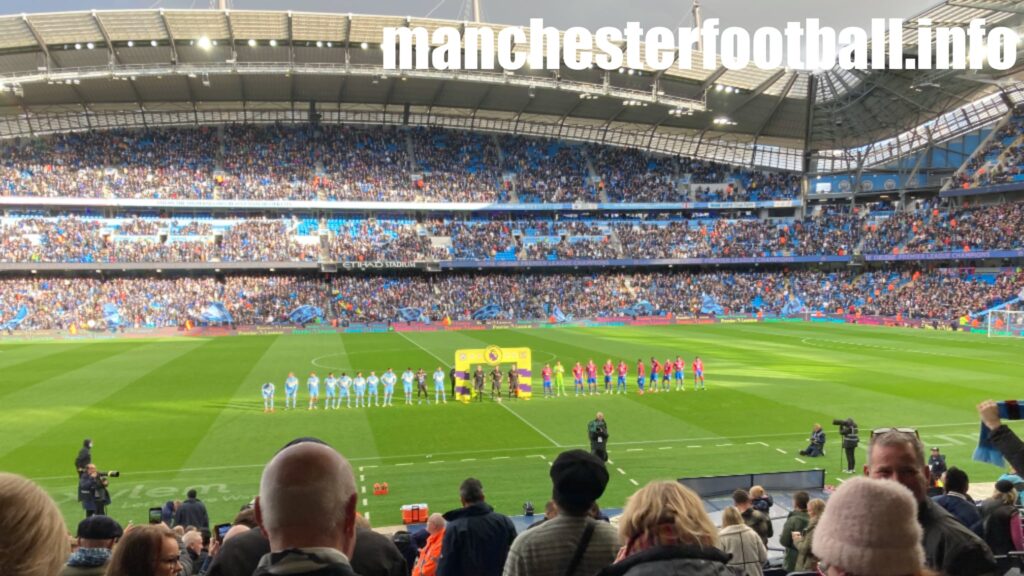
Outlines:
[[[0,280],[0,321],[25,305],[23,329],[104,329],[103,304],[114,304],[128,327],[173,327],[200,322],[211,302],[223,302],[234,324],[288,323],[300,305],[319,307],[325,321],[398,322],[416,307],[434,322],[472,320],[496,306],[499,320],[566,318],[796,315],[861,313],[943,323],[1015,297],[1024,273],[992,279],[945,272],[444,274],[212,278],[24,278]],[[639,308],[638,308],[639,306]]]

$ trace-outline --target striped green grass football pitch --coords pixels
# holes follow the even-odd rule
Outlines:
[[[289,371],[300,376],[302,406],[310,370],[322,377],[329,369],[446,370],[455,349],[487,344],[531,347],[535,374],[556,358],[567,367],[625,358],[632,370],[638,357],[699,355],[709,390],[695,393],[688,382],[685,393],[641,397],[631,374],[627,397],[280,409]],[[998,470],[969,460],[978,435],[974,406],[1020,397],[1022,369],[1020,340],[802,323],[0,341],[0,469],[35,479],[76,523],[73,461],[90,437],[97,465],[123,471],[111,481],[112,516],[144,522],[150,506],[198,487],[219,523],[256,494],[263,464],[283,444],[316,436],[351,460],[367,487],[359,508],[374,525],[397,524],[406,503],[456,507],[469,476],[481,479],[499,510],[520,513],[524,500],[541,505],[549,497],[549,461],[583,447],[587,422],[601,410],[613,462],[605,507],[622,506],[652,479],[820,466],[837,483],[845,476],[829,422],[847,416],[864,439],[876,426],[918,426],[951,464],[984,482]],[[275,414],[261,410],[259,385],[268,379],[278,384]],[[816,421],[830,433],[828,455],[800,461]],[[373,496],[375,482],[389,483],[391,494]]]

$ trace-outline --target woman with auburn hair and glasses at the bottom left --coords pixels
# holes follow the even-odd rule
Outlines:
[[[132,526],[114,547],[106,576],[177,576],[182,568],[173,530],[162,524]]]

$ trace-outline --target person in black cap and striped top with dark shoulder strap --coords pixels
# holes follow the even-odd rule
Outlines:
[[[594,574],[615,559],[622,545],[611,525],[590,518],[608,484],[604,462],[589,452],[569,450],[555,458],[550,474],[559,513],[515,539],[504,576]]]

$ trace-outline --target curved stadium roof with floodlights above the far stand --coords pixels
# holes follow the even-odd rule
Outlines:
[[[947,0],[907,26],[921,17],[933,26],[966,26],[983,17],[989,27],[1020,29],[1024,0]],[[721,67],[384,71],[382,29],[407,25],[430,30],[464,23],[246,10],[2,16],[0,137],[114,126],[302,121],[314,101],[326,122],[516,131],[801,169],[805,150],[827,151],[825,156],[856,164],[851,159],[872,142],[905,133],[930,139],[926,127],[935,119],[1008,87],[1018,93],[1013,80],[1024,66],[1002,73],[837,69],[815,75]],[[201,46],[200,39],[210,44]],[[915,41],[908,29],[907,55],[915,53]],[[990,114],[959,123],[959,129],[997,118],[1006,102],[986,105]],[[920,134],[908,150],[927,145],[918,141]]]

